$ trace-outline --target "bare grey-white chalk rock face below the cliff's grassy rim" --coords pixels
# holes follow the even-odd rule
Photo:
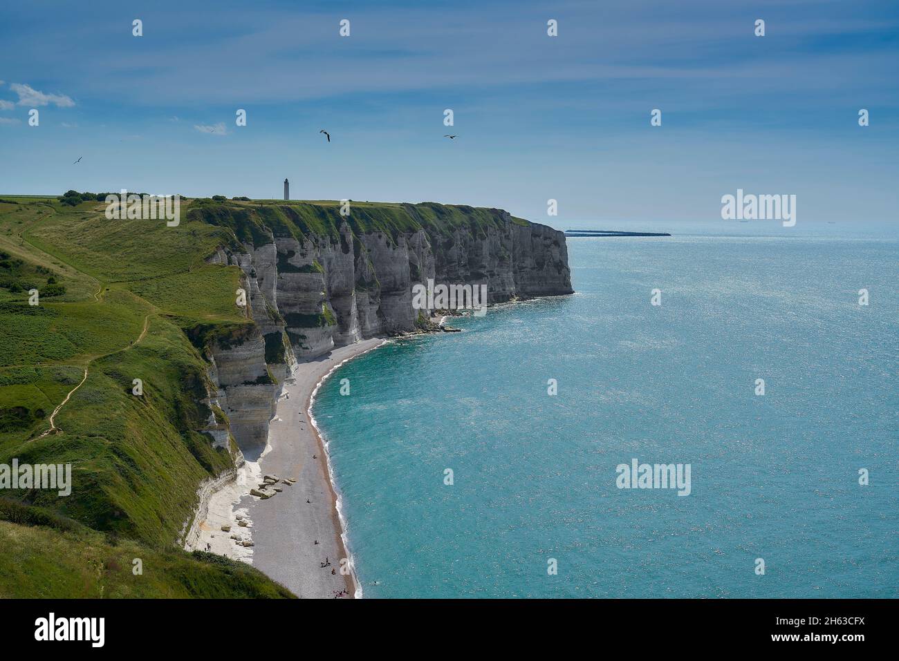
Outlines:
[[[241,449],[264,446],[279,382],[294,356],[314,358],[360,339],[414,331],[428,314],[413,308],[416,284],[485,284],[489,303],[572,293],[565,235],[491,212],[500,222],[480,230],[357,235],[343,223],[336,236],[270,233],[270,242],[257,237],[241,252],[213,253],[210,263],[242,269],[258,328],[211,356],[210,374]]]

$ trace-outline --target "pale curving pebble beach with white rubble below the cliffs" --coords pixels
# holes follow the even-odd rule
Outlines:
[[[254,457],[255,461],[239,463],[232,479],[210,484],[207,490],[211,493],[201,495],[194,522],[196,530],[191,528],[186,535],[188,549],[209,549],[253,564],[298,596],[327,598],[336,596],[334,588],[339,587],[346,590],[347,596],[361,596],[347,548],[343,500],[336,489],[327,444],[312,418],[311,408],[318,389],[337,367],[385,341],[360,340],[292,366],[278,394],[277,410],[262,452]],[[265,473],[297,481],[281,485],[280,494],[261,500],[249,491]],[[231,525],[231,531],[222,531],[223,525]],[[239,533],[253,545],[236,543],[231,539],[232,533]],[[338,561],[345,558],[350,573],[332,576],[327,566],[321,565],[325,556]]]

